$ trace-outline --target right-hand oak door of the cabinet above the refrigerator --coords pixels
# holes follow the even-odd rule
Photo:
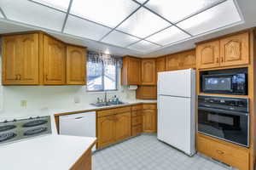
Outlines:
[[[182,69],[195,68],[195,50],[180,54]]]

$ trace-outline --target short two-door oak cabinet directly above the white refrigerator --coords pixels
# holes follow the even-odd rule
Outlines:
[[[166,71],[195,68],[195,49],[166,56]]]

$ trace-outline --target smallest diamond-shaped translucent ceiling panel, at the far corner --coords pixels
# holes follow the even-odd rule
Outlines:
[[[156,48],[160,48],[160,46],[151,43],[151,42],[147,42],[147,41],[141,41],[141,42],[137,42],[135,44],[132,44],[131,46],[129,46],[128,48],[130,49],[134,49],[143,53],[148,53],[151,51],[154,51],[154,49]]]

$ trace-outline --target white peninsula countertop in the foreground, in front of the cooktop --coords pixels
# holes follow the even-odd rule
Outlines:
[[[67,170],[96,138],[46,135],[0,146],[0,169]]]

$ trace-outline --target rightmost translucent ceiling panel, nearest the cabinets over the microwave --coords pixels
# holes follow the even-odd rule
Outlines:
[[[210,8],[201,14],[180,22],[177,26],[193,35],[212,31],[241,21],[233,0],[228,0],[216,7]]]

